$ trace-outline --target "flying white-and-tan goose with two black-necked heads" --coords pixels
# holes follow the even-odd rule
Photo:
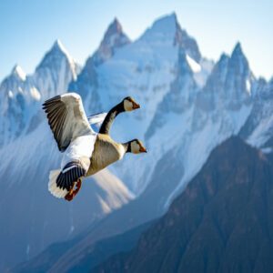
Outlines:
[[[61,168],[50,171],[48,189],[52,195],[71,201],[81,187],[81,178],[122,159],[126,153],[144,153],[147,149],[138,139],[116,143],[109,136],[116,116],[140,106],[130,96],[106,115],[97,134],[88,122],[81,96],[67,93],[45,101],[43,109],[60,152],[65,152]],[[95,118],[101,121],[101,116]],[[89,120],[90,121],[90,120]],[[94,123],[94,118],[92,122]]]

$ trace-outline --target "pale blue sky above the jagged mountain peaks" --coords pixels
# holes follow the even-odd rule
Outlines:
[[[240,41],[254,74],[270,78],[272,11],[271,0],[1,0],[0,81],[15,64],[33,73],[56,38],[84,64],[114,17],[136,39],[157,17],[172,12],[203,56],[217,60]]]

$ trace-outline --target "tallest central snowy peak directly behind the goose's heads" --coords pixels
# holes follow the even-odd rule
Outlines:
[[[92,60],[96,52],[87,60],[77,81],[69,89],[77,90],[86,97],[86,109],[90,112],[106,111],[123,97],[134,96],[143,106],[141,111],[118,116],[112,135],[119,141],[136,137],[144,140],[157,106],[177,76],[179,51],[187,53],[193,76],[200,74],[200,71],[205,75],[211,68],[203,68],[206,60],[200,57],[197,42],[179,26],[177,16],[167,15],[159,18],[134,43],[119,47],[114,56],[95,67]],[[132,126],[124,130],[128,124]],[[130,159],[111,169],[127,181],[128,187],[140,193],[148,183],[150,172],[145,172],[145,166],[151,157],[147,156],[147,160],[143,157]],[[134,169],[130,167],[132,164]],[[143,171],[139,172],[138,168]]]

